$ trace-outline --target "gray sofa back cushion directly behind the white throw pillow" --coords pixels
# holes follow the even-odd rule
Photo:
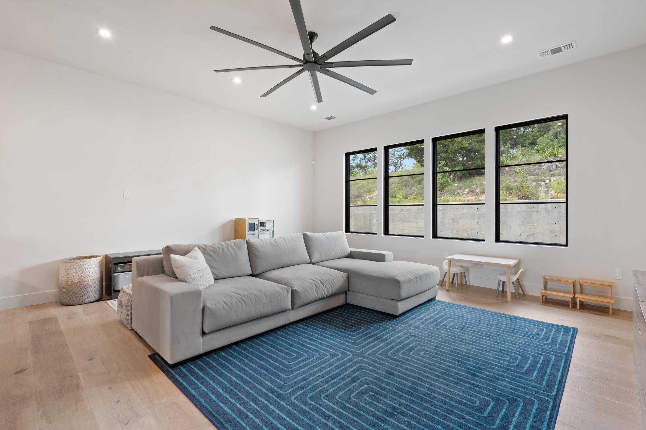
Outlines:
[[[187,255],[193,248],[200,249],[211,268],[213,279],[233,278],[251,275],[247,241],[245,239],[228,240],[214,245],[167,245],[161,249],[163,270],[166,275],[177,278],[172,269],[171,255]]]

